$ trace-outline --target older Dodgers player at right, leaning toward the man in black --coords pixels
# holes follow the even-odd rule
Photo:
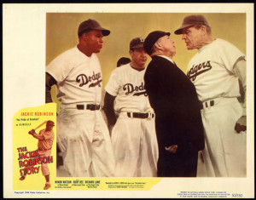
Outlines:
[[[241,81],[246,94],[246,59],[234,45],[214,39],[202,15],[189,15],[175,31],[183,34],[187,49],[198,49],[189,62],[187,76],[201,100],[206,148],[201,163],[206,174],[218,177],[246,176],[246,101],[240,96]],[[202,166],[199,165],[199,170]]]

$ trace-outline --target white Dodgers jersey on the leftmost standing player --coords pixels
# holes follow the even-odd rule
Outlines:
[[[102,71],[96,54],[88,57],[74,47],[52,60],[46,72],[55,78],[62,104],[100,103]]]

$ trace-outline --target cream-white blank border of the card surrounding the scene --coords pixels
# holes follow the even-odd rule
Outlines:
[[[254,32],[253,3],[67,3],[20,4],[3,3],[3,197],[15,195],[12,190],[12,117],[24,107],[44,104],[45,14],[56,12],[105,13],[246,13],[247,14],[247,122],[254,122],[253,66]],[[42,39],[43,38],[43,39]],[[22,76],[20,76],[22,74]],[[24,79],[26,74],[26,79]],[[31,87],[31,83],[36,84]],[[29,98],[28,98],[29,97]],[[247,129],[254,133],[253,125]],[[254,141],[253,135],[248,135]],[[253,142],[247,140],[247,151],[253,152]],[[253,158],[252,158],[253,159]],[[254,160],[247,161],[254,172]],[[8,174],[8,175],[6,175]],[[162,179],[151,191],[49,191],[38,197],[173,197],[185,191],[187,179]],[[227,190],[242,192],[243,197],[254,195],[253,177],[245,179],[196,179],[189,190]]]

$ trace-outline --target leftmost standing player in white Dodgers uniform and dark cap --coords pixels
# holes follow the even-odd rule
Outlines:
[[[89,19],[80,24],[78,33],[79,44],[46,67],[46,90],[56,83],[61,101],[57,143],[70,176],[113,176],[113,148],[99,105],[102,71],[95,54],[110,31]]]

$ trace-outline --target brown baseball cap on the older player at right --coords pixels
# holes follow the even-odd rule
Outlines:
[[[183,28],[188,28],[194,25],[206,25],[209,26],[207,19],[201,14],[192,14],[186,16],[183,20],[182,26],[180,26],[174,33],[176,35],[183,34]]]

